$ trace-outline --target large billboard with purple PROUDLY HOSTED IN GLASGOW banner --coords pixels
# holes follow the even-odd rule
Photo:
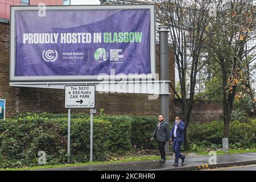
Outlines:
[[[11,7],[10,81],[155,75],[154,5]]]

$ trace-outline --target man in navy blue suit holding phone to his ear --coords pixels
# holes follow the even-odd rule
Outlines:
[[[181,164],[184,164],[185,156],[180,154],[180,147],[184,141],[184,129],[185,123],[181,121],[180,117],[175,117],[174,126],[172,127],[170,134],[170,142],[172,144],[172,150],[175,153],[175,162],[172,166],[179,166],[179,158],[181,159]]]

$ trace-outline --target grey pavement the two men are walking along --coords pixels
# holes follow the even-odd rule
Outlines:
[[[174,156],[166,160],[166,163],[159,163],[159,160],[147,160],[141,162],[126,162],[126,163],[112,163],[112,164],[97,164],[92,166],[76,166],[76,167],[62,167],[62,168],[48,168],[39,169],[46,171],[188,171],[198,169],[208,169],[217,167],[241,166],[256,164],[256,152],[249,152],[245,154],[228,154],[215,156],[216,163],[214,163],[214,156],[203,156],[189,154],[185,158],[185,163],[181,166],[179,160],[179,167],[173,167]],[[160,156],[159,156],[160,158]],[[209,159],[210,162],[209,163]]]

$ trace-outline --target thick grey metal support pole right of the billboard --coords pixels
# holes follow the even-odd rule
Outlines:
[[[168,32],[169,28],[164,25],[158,27],[159,46],[160,46],[160,80],[170,80],[168,67]],[[165,85],[162,85],[165,86]],[[169,122],[169,94],[160,94],[160,114],[164,115],[164,121]],[[165,146],[166,152],[169,151],[169,144]]]

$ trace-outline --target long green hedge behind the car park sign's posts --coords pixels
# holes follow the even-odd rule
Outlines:
[[[90,147],[90,116],[72,114],[71,163],[87,162]],[[0,121],[0,168],[38,165],[39,151],[47,164],[67,162],[67,114],[20,114]],[[93,127],[94,160],[110,153],[126,154],[137,149],[156,149],[150,142],[155,117],[96,115]]]

